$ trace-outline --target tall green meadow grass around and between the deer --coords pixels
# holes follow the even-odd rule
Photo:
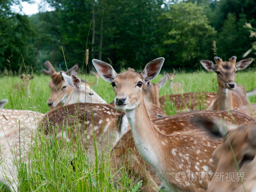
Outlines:
[[[100,78],[98,84],[96,84],[94,83],[95,77],[89,74],[78,76],[87,82],[91,82],[92,89],[106,102],[110,103],[114,100],[114,92],[110,83]],[[163,71],[152,82],[156,83],[162,77]],[[20,76],[2,75],[0,77],[0,99],[8,99],[4,108],[46,113],[49,110],[47,105],[50,95],[49,81],[50,76],[34,75],[28,87],[29,91],[17,90],[14,84],[21,82]],[[184,92],[210,91],[217,93],[218,88],[217,75],[214,72],[178,72],[174,82],[182,83]],[[255,69],[249,68],[238,71],[236,82],[242,84],[246,91],[255,89]],[[165,86],[160,89],[159,96],[165,94],[172,94],[168,80]],[[249,97],[249,101],[255,103],[256,96]],[[173,114],[170,111],[166,111],[166,113]],[[89,162],[82,145],[78,142],[76,146],[74,149],[69,143],[63,145],[63,142],[58,142],[54,137],[48,138],[48,142],[44,137],[35,138],[29,151],[29,161],[27,163],[15,162],[18,167],[19,191],[136,192],[139,190],[141,182],[133,182],[124,168],[114,171],[110,169],[111,157],[102,155],[96,158],[94,162]],[[73,160],[72,165],[71,160]],[[121,173],[118,174],[121,175],[121,179],[114,183],[117,172]]]

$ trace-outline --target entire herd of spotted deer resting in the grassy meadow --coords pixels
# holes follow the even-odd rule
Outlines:
[[[43,72],[51,78],[48,112],[4,109],[7,99],[0,101],[0,183],[18,191],[15,160],[28,161],[38,136],[55,135],[74,148],[81,142],[92,164],[96,156],[110,157],[117,173],[113,182],[119,182],[117,170],[124,167],[134,184],[142,180],[141,191],[256,192],[256,103],[250,105],[244,87],[235,83],[237,71],[253,59],[236,59],[200,61],[217,74],[217,94],[183,93],[183,85],[173,82],[176,72],[164,72],[158,83],[151,83],[161,71],[162,57],[140,73],[129,68],[120,74],[93,59],[95,84],[101,77],[113,86],[115,97],[109,104],[78,77],[78,65],[56,72],[46,61]],[[22,77],[24,84],[29,78]],[[167,79],[174,94],[159,97]],[[167,116],[167,102],[177,114]],[[197,110],[199,105],[206,110]]]

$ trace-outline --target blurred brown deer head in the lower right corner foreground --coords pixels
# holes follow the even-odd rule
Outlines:
[[[217,169],[207,192],[255,192],[256,123],[242,127],[225,125],[228,138],[223,123],[220,121],[204,118],[199,123],[212,132],[212,136],[225,138],[212,154],[216,159]],[[234,157],[238,166],[236,166]]]

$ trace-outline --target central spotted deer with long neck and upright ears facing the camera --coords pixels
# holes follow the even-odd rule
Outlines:
[[[124,110],[139,154],[153,167],[167,190],[206,191],[208,183],[215,172],[212,152],[221,140],[210,137],[189,123],[194,116],[219,117],[216,111],[194,111],[150,120],[144,104],[142,89],[148,81],[160,72],[164,58],[150,61],[141,74],[126,71],[117,74],[108,63],[93,59],[92,63],[99,76],[111,83],[115,93],[117,110]],[[252,118],[243,115],[254,121]],[[192,146],[192,147],[191,147]],[[180,173],[206,173],[206,182],[180,182]],[[184,177],[182,177],[184,178]],[[181,178],[181,179],[182,179]]]

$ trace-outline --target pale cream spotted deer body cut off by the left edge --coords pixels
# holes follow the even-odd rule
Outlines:
[[[38,112],[0,109],[0,182],[14,191],[18,190],[16,163],[26,161],[41,116]]]

